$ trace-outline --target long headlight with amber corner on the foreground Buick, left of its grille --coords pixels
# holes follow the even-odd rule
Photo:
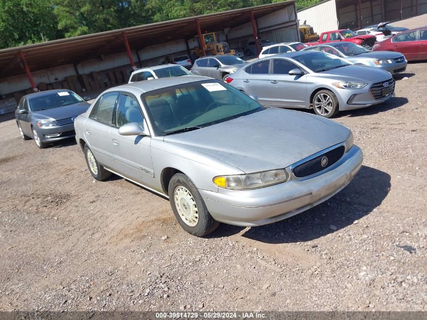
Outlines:
[[[213,178],[213,182],[216,186],[224,189],[250,190],[281,184],[288,179],[288,171],[278,169],[249,174],[216,176]]]

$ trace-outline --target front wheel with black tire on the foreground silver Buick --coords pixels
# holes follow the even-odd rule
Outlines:
[[[176,173],[171,178],[168,194],[173,214],[189,234],[204,237],[218,227],[219,222],[212,218],[193,181],[185,174]]]

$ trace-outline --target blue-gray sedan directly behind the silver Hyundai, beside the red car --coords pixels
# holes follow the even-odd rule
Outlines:
[[[312,45],[302,51],[322,51],[346,59],[352,63],[378,67],[396,74],[406,70],[408,62],[405,56],[392,51],[369,51],[352,42],[330,42],[321,45]]]

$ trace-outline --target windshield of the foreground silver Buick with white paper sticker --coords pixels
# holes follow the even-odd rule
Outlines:
[[[156,135],[200,128],[264,110],[218,80],[184,83],[141,95]]]

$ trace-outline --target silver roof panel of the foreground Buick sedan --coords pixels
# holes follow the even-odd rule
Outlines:
[[[140,95],[149,91],[167,88],[170,86],[178,85],[178,84],[185,84],[185,83],[192,83],[192,82],[198,82],[203,80],[212,80],[217,81],[215,79],[209,78],[209,77],[202,77],[197,75],[185,75],[185,76],[177,76],[177,77],[169,77],[169,78],[160,78],[160,79],[152,79],[152,80],[145,80],[145,81],[137,81],[132,83],[125,83],[122,85],[118,85],[115,87],[111,87],[104,91],[111,92],[111,91],[124,91],[124,92],[130,92],[135,95]],[[103,94],[104,94],[103,93]]]

